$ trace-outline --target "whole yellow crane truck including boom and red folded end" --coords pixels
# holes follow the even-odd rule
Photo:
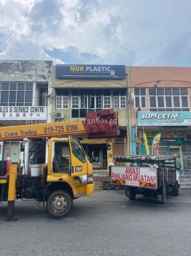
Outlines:
[[[117,113],[101,110],[87,113],[85,121],[0,127],[0,140],[36,140],[47,144],[47,157],[38,168],[24,162],[0,162],[0,200],[7,201],[7,220],[12,220],[15,200],[37,200],[53,217],[68,214],[73,200],[93,194],[93,167],[80,141],[71,135],[88,138],[114,138],[119,135]],[[68,137],[67,137],[68,136]],[[27,166],[27,167],[26,167]],[[9,170],[8,170],[9,169]]]

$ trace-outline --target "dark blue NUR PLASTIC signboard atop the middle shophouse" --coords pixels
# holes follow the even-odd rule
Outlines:
[[[56,65],[57,79],[125,79],[125,65]]]

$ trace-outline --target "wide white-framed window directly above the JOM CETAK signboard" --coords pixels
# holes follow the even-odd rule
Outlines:
[[[150,111],[189,111],[187,88],[149,88]]]

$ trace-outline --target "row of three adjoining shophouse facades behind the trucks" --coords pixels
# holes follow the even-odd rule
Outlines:
[[[1,126],[82,120],[87,112],[103,109],[118,112],[119,138],[79,136],[94,168],[107,169],[117,154],[145,154],[143,133],[151,149],[160,132],[160,154],[176,154],[177,163],[190,170],[190,108],[190,67],[0,61]],[[43,154],[45,148],[42,140],[27,141],[25,157],[34,164],[44,161],[35,144]],[[20,141],[1,142],[0,148],[0,159],[10,151],[12,162],[19,161]]]

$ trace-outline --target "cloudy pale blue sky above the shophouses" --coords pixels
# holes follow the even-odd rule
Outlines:
[[[191,66],[190,0],[0,0],[0,60]]]

